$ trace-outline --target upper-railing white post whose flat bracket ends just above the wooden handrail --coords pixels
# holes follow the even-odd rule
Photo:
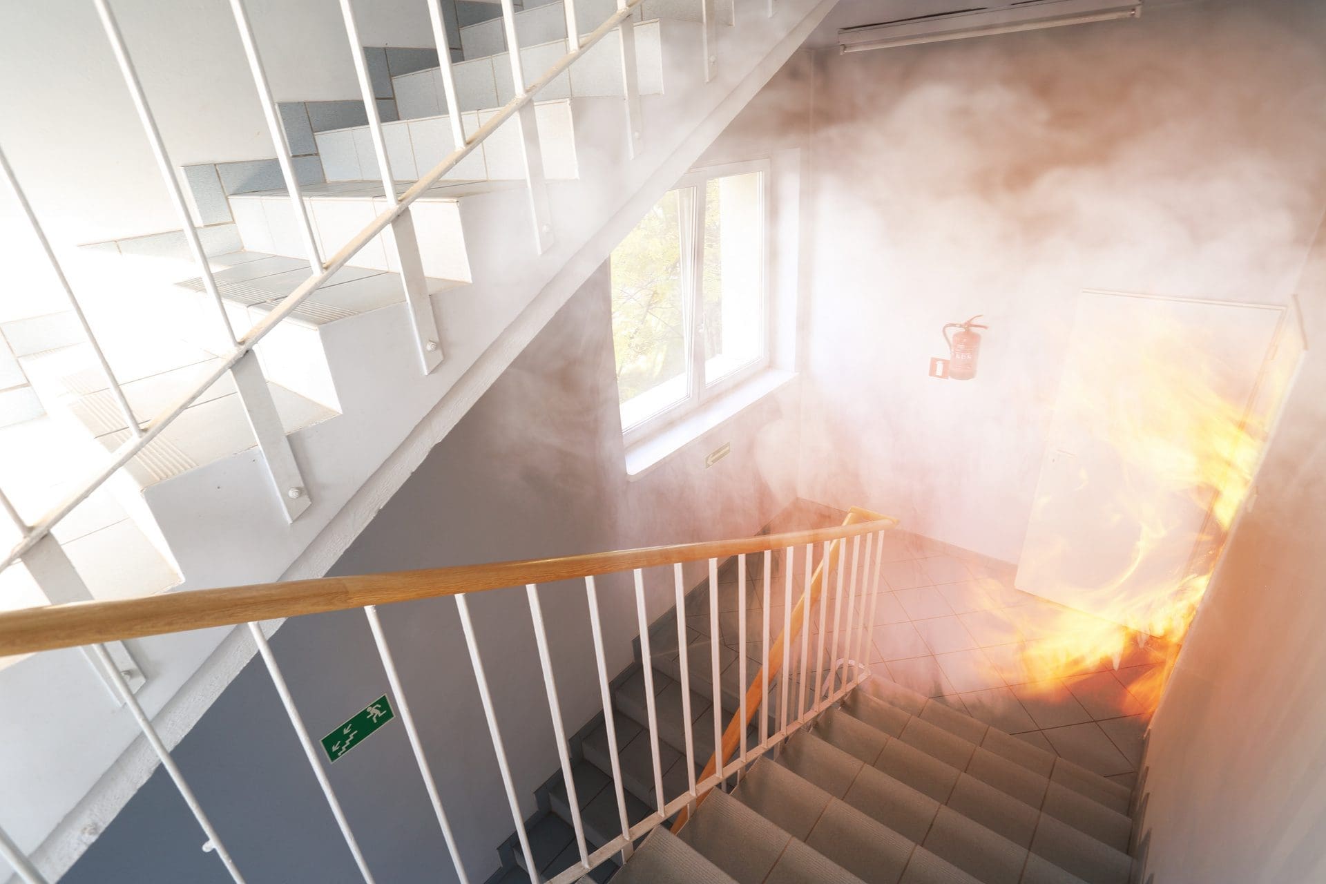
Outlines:
[[[143,85],[138,80],[138,72],[134,68],[134,62],[129,57],[129,48],[125,45],[125,37],[119,32],[119,24],[115,21],[115,16],[110,11],[109,0],[91,1],[97,8],[97,15],[101,17],[101,24],[106,32],[106,38],[110,41],[111,52],[115,54],[115,61],[119,64],[119,73],[125,78],[125,85],[129,86],[129,95],[134,102],[134,107],[138,110],[138,118],[143,125],[143,133],[147,135],[147,142],[152,148],[152,156],[156,159],[158,171],[160,171],[162,180],[166,183],[166,191],[170,193],[171,203],[175,205],[175,212],[179,216],[184,240],[188,243],[190,253],[198,264],[199,273],[203,280],[203,288],[216,305],[216,311],[221,321],[221,330],[224,333],[224,349],[233,347],[236,345],[235,329],[231,327],[229,315],[225,313],[225,302],[221,300],[221,293],[216,288],[216,280],[212,277],[212,265],[208,262],[207,253],[203,250],[203,243],[198,237],[198,231],[194,228],[194,219],[188,213],[188,205],[184,203],[184,192],[180,190],[179,180],[175,178],[175,170],[174,166],[171,166],[170,154],[166,152],[166,142],[162,139],[160,129],[156,126],[156,118],[152,115],[151,107],[147,105],[147,95],[143,93]],[[245,359],[251,357],[252,354],[247,354]],[[256,359],[256,357],[252,358]],[[268,469],[272,473],[272,481],[277,485],[277,500],[281,502],[286,518],[294,521],[309,508],[310,501],[304,480],[289,478],[290,476],[300,476],[300,465],[294,460],[294,452],[290,451],[290,440],[285,437],[285,431],[281,429],[278,420],[272,421],[268,419],[268,416],[276,411],[276,404],[272,402],[272,392],[267,388],[265,383],[252,383],[253,375],[261,376],[261,370],[257,368],[256,362],[251,374],[244,376],[241,376],[243,372],[240,371],[233,371],[232,374],[235,375],[235,386],[239,390],[240,403],[249,416],[249,424],[253,427],[255,435],[261,433],[257,435],[257,445],[263,451],[263,457],[267,460]],[[284,489],[281,488],[282,485]]]

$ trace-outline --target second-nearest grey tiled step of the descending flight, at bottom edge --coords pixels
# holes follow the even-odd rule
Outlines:
[[[712,791],[678,835],[739,884],[861,879],[721,791]]]

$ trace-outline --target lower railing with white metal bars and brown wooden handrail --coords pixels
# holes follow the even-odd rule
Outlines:
[[[142,635],[199,628],[199,626],[210,626],[220,622],[239,623],[244,622],[245,615],[251,615],[251,612],[257,611],[269,616],[292,616],[297,615],[298,611],[313,612],[316,610],[345,610],[362,607],[387,676],[390,696],[394,698],[395,708],[399,710],[399,716],[406,729],[408,744],[419,769],[419,775],[436,816],[440,834],[446,842],[459,880],[461,883],[468,883],[461,856],[461,846],[455,840],[447,811],[443,807],[442,795],[438,790],[436,781],[426,757],[423,736],[419,733],[415,718],[410,710],[410,702],[406,697],[406,689],[400,681],[400,675],[391,653],[389,636],[377,610],[377,603],[379,600],[389,602],[423,598],[436,599],[443,595],[455,595],[455,604],[460,616],[460,627],[468,649],[472,675],[479,689],[479,697],[483,705],[483,713],[487,721],[493,755],[500,773],[503,793],[507,798],[512,822],[516,827],[516,838],[520,843],[520,851],[524,855],[525,868],[530,871],[530,879],[541,881],[542,879],[540,877],[537,867],[533,861],[529,834],[520,810],[517,786],[508,762],[505,744],[503,741],[496,709],[493,706],[493,697],[488,687],[488,676],[485,673],[483,655],[469,615],[471,595],[491,587],[503,586],[503,582],[508,578],[518,579],[530,577],[533,579],[525,583],[525,591],[529,602],[529,616],[534,627],[534,640],[538,651],[541,680],[548,697],[548,709],[552,716],[553,734],[557,741],[558,766],[566,787],[569,815],[572,818],[572,826],[575,831],[575,846],[578,851],[578,861],[570,868],[552,876],[549,880],[553,884],[569,884],[573,880],[578,880],[581,876],[593,871],[613,856],[621,856],[623,861],[629,859],[633,846],[642,836],[672,819],[683,810],[686,810],[687,814],[693,811],[696,804],[704,799],[704,795],[709,790],[716,787],[723,789],[733,778],[740,779],[747,766],[757,761],[765,753],[778,749],[782,742],[792,737],[798,729],[806,726],[812,720],[814,720],[814,717],[818,716],[826,705],[834,702],[870,676],[866,660],[869,659],[869,649],[871,647],[870,634],[875,620],[875,608],[879,598],[880,563],[883,558],[882,537],[883,533],[895,524],[896,522],[890,518],[875,517],[874,514],[863,514],[863,512],[854,510],[849,521],[842,527],[819,529],[818,531],[814,531],[814,534],[829,534],[837,539],[823,542],[821,547],[822,558],[818,566],[815,566],[812,561],[814,553],[817,551],[815,543],[805,543],[805,546],[801,547],[802,561],[800,565],[802,566],[802,573],[805,574],[805,584],[800,598],[794,598],[796,587],[793,578],[798,566],[798,546],[793,541],[812,533],[772,535],[766,538],[754,538],[752,541],[711,545],[626,550],[621,553],[579,557],[579,562],[585,562],[583,567],[578,566],[579,562],[577,562],[577,559],[544,559],[536,562],[507,562],[493,566],[471,566],[467,569],[436,569],[435,571],[406,573],[404,575],[330,578],[335,580],[341,600],[330,603],[322,602],[322,599],[328,596],[326,588],[322,588],[321,586],[309,587],[320,590],[316,592],[316,596],[320,599],[320,604],[314,608],[308,607],[308,598],[310,596],[304,595],[301,592],[301,587],[306,584],[321,584],[324,580],[308,580],[301,584],[273,583],[259,587],[237,587],[233,590],[204,590],[191,594],[156,596],[152,599],[102,602],[91,606],[99,608],[99,612],[109,612],[111,615],[109,618],[91,615],[98,612],[89,614],[77,610],[70,611],[68,608],[13,611],[0,614],[0,651],[8,651],[12,647],[17,647],[16,640],[12,637],[17,635],[28,636],[23,639],[24,649],[53,649],[57,647],[76,645],[80,640],[86,640],[89,637],[93,639],[89,641],[90,649],[95,655],[99,665],[115,683],[123,701],[133,712],[133,716],[145,738],[159,757],[180,795],[184,798],[188,808],[198,820],[198,824],[206,836],[203,850],[215,852],[229,876],[235,881],[243,883],[245,879],[221,840],[221,834],[208,819],[194,791],[190,789],[183,771],[171,758],[170,751],[158,736],[151,720],[138,704],[133,691],[130,691],[127,683],[125,683],[125,680],[115,672],[115,665],[106,653],[102,647],[103,643],[99,639],[106,637],[106,632],[114,632],[117,628],[121,630],[119,632],[115,632],[119,637],[138,637]],[[862,543],[862,535],[866,538],[865,543]],[[735,636],[732,635],[732,630],[724,631],[721,628],[723,620],[719,616],[720,595],[727,595],[727,590],[720,580],[719,555],[691,558],[696,551],[707,551],[707,549],[701,547],[731,547],[733,545],[736,545],[737,549],[747,550],[736,554],[736,586],[731,590],[736,599],[739,599],[735,611],[737,616]],[[774,549],[778,550],[781,557],[784,578],[780,580],[782,587],[781,599],[774,592]],[[760,555],[762,558],[760,578],[762,586],[758,594],[752,592],[751,574],[747,567],[748,555]],[[695,562],[696,565],[703,563],[707,566],[708,573],[707,592],[708,620],[711,628],[708,644],[711,664],[713,667],[712,702],[716,755],[711,759],[709,766],[704,769],[705,771],[712,769],[712,773],[703,778],[696,775],[697,762],[703,759],[696,757],[695,733],[692,730],[691,692],[693,691],[693,685],[691,680],[690,660],[690,651],[696,649],[699,645],[693,644],[693,640],[688,636],[687,594],[683,586],[684,562]],[[656,706],[658,701],[654,692],[652,661],[655,657],[654,648],[651,647],[651,639],[654,636],[651,635],[650,620],[646,612],[647,582],[644,574],[647,567],[666,567],[668,563],[672,565],[672,592],[666,592],[667,582],[663,579],[655,580],[655,586],[656,590],[663,591],[664,598],[671,595],[671,603],[668,610],[664,612],[664,618],[672,616],[676,622],[676,649],[678,663],[680,667],[679,675],[682,694],[680,712],[686,744],[684,763],[687,765],[686,789],[684,791],[672,795],[666,793],[663,767],[660,762],[660,713]],[[457,575],[457,573],[460,574]],[[467,583],[469,580],[467,575],[469,574],[481,575],[473,578],[473,582],[479,588],[473,591],[453,588]],[[613,701],[611,673],[609,672],[606,663],[607,639],[613,637],[618,647],[622,647],[626,637],[621,635],[603,635],[601,618],[602,599],[595,577],[602,577],[605,574],[622,574],[623,577],[626,574],[630,575],[634,591],[621,591],[619,595],[614,598],[617,606],[635,606],[635,622],[639,630],[639,665],[643,667],[646,714],[644,721],[639,721],[636,724],[648,732],[651,765],[651,777],[648,782],[654,789],[654,806],[650,807],[650,812],[644,819],[635,820],[634,823],[627,812],[627,785],[622,773],[618,745],[619,741],[617,736],[617,716],[621,713],[615,709],[615,704]],[[664,574],[666,573],[656,573],[655,577],[663,578]],[[396,588],[392,582],[394,577],[399,578],[400,583],[410,583],[411,586],[403,590]],[[613,781],[613,795],[615,798],[618,811],[619,832],[615,835],[605,835],[606,842],[598,846],[593,846],[587,842],[582,808],[579,798],[575,793],[575,778],[572,770],[572,746],[568,740],[568,726],[564,720],[554,667],[548,647],[548,635],[544,626],[542,608],[538,599],[540,583],[562,582],[574,577],[583,578],[585,595],[589,603],[589,626],[595,660],[598,692],[602,704],[603,725],[607,734],[610,769],[607,773]],[[574,584],[570,586],[573,587]],[[835,587],[833,592],[830,592],[831,586]],[[565,594],[573,590],[569,588],[566,583],[562,583],[552,591]],[[773,623],[769,612],[770,606],[777,604],[778,602],[781,602],[785,611],[782,618],[782,631],[781,634],[773,634]],[[115,616],[115,612],[125,611],[126,606],[129,606],[129,608],[137,607],[141,610],[163,610],[160,622],[167,623],[168,626],[156,626],[158,620],[152,616],[138,618],[129,614]],[[758,644],[760,657],[764,661],[764,665],[756,679],[748,683],[745,659],[751,656],[751,647],[747,643],[748,636],[745,624],[753,615],[757,606],[761,608]],[[831,635],[826,636],[823,628],[827,623],[827,611],[830,607],[834,608],[833,622],[839,624],[841,628],[835,628]],[[794,608],[797,612],[793,612]],[[206,614],[204,616],[199,614],[199,611],[211,614]],[[818,615],[818,620],[814,619],[815,615]],[[216,618],[221,619],[219,620]],[[77,623],[73,623],[74,620],[84,623],[84,626],[80,627]],[[33,627],[33,622],[37,623],[36,627]],[[809,632],[812,631],[812,626],[817,622],[819,624],[819,647],[823,648],[827,641],[827,660],[831,663],[827,667],[823,665],[825,657],[821,651],[821,659],[814,660],[814,665],[812,668],[812,661],[806,657],[805,648],[808,647],[806,641]],[[117,627],[117,623],[130,623],[133,626],[131,628],[125,630],[122,627]],[[801,623],[800,631],[802,634],[800,669],[788,665],[794,660],[794,656],[790,653],[790,647],[792,640],[796,636],[790,631],[797,628],[797,623]],[[276,656],[272,652],[272,647],[268,643],[263,626],[259,622],[248,622],[247,627],[256,649],[267,667],[268,675],[272,679],[272,684],[281,698],[286,716],[290,721],[290,726],[294,729],[300,745],[304,749],[312,774],[317,779],[328,807],[337,822],[342,840],[350,851],[350,856],[353,857],[358,873],[367,884],[373,884],[373,871],[365,859],[359,842],[355,839],[354,831],[342,811],[341,802],[338,801],[328,777],[328,763],[330,758],[324,759],[317,742],[310,736],[304,717],[296,704],[292,688],[286,683],[285,676],[276,661]],[[40,634],[40,637],[32,637],[33,634]],[[666,635],[666,631],[659,631],[658,635]],[[723,700],[720,649],[725,644],[729,644],[733,639],[737,643],[736,649],[739,659],[741,660],[739,664],[741,671],[741,680],[739,683],[741,700],[737,709],[725,709]],[[776,676],[770,677],[768,661],[770,660],[772,648],[780,643],[784,668],[778,669]],[[773,659],[777,660],[777,657]],[[533,673],[529,673],[529,676],[528,681],[536,680]],[[748,684],[749,689],[747,688]],[[789,692],[789,685],[792,684],[797,685],[797,697],[793,697]],[[747,708],[747,696],[756,688],[760,689],[758,712]],[[806,694],[808,688],[809,697]],[[793,710],[794,704],[797,706],[796,710]],[[737,717],[728,724],[728,742],[724,744],[725,716],[731,716],[732,713],[736,713]],[[758,736],[754,737],[753,741],[747,733],[751,730],[751,721],[747,713],[756,713],[760,716],[757,729]],[[741,730],[740,751],[735,753],[732,759],[728,761],[725,746],[731,747],[733,742],[732,729],[737,726],[740,726]],[[683,747],[678,749],[680,750]],[[236,771],[236,775],[243,775],[243,773]],[[644,795],[640,795],[640,798],[643,799]],[[484,850],[495,847],[499,840],[501,839],[495,839],[495,843],[492,844],[484,844]],[[45,884],[45,879],[32,860],[19,851],[4,831],[0,831],[0,856],[8,860],[9,865],[28,884]],[[260,875],[260,872],[255,871],[251,871],[249,873],[255,876]]]

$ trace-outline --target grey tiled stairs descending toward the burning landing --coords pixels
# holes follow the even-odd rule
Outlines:
[[[725,639],[737,611],[751,616],[751,636],[761,622],[758,561],[752,558],[752,591],[736,592],[735,562],[720,571]],[[778,575],[778,559],[773,574]],[[781,580],[774,579],[774,604]],[[701,584],[687,610],[708,606]],[[833,618],[831,606],[829,619]],[[690,618],[704,628],[704,616]],[[777,615],[773,618],[777,619]],[[675,636],[675,620],[651,628],[655,643]],[[739,702],[739,660],[723,645],[723,709]],[[708,636],[696,635],[691,659],[695,770],[712,754],[713,683],[707,668]],[[652,656],[660,736],[663,789],[668,798],[688,789],[678,655]],[[748,671],[760,667],[752,641]],[[813,664],[812,664],[813,665]],[[793,679],[792,705],[800,689]],[[773,693],[777,701],[778,688]],[[654,812],[648,709],[639,663],[614,681],[613,709],[629,822]],[[796,709],[793,708],[793,714]],[[770,730],[777,729],[770,710]],[[758,745],[758,728],[748,740]],[[621,832],[613,794],[613,767],[603,717],[572,741],[579,757],[573,777],[590,850]],[[598,881],[667,884],[762,884],[833,881],[841,884],[1126,884],[1132,859],[1131,791],[1065,758],[957,712],[884,677],[871,677],[825,709],[781,747],[729,778],[729,791],[713,790],[676,832],[658,827],[619,871],[607,863]],[[732,787],[735,786],[735,787]],[[578,861],[573,816],[562,775],[537,793],[540,812],[526,820],[541,880]],[[675,826],[675,820],[674,820]],[[528,881],[512,836],[501,848],[499,884]]]

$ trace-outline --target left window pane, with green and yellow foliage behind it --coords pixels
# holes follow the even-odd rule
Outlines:
[[[623,429],[687,395],[679,201],[668,191],[613,249],[613,349]]]

